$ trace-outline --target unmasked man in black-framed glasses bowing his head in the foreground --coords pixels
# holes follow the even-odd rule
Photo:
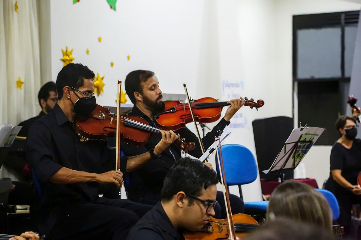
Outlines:
[[[202,230],[215,214],[217,183],[217,173],[199,160],[177,160],[164,180],[162,200],[139,220],[127,240],[182,240],[182,231]]]

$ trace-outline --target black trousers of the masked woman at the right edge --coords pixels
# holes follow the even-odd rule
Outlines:
[[[337,223],[344,227],[345,237],[351,236],[351,209],[353,204],[360,204],[361,197],[352,192],[334,192],[334,195],[340,206],[340,217]]]

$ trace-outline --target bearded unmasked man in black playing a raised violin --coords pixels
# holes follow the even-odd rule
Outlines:
[[[147,70],[136,70],[130,72],[125,79],[125,90],[129,99],[134,103],[134,107],[129,115],[143,117],[150,126],[156,127],[154,116],[157,112],[164,109],[162,101],[162,90],[154,72]],[[218,137],[219,132],[223,131],[226,125],[230,124],[230,119],[244,105],[244,99],[232,99],[228,102],[225,116],[218,122],[214,128],[202,138],[204,148],[207,149],[213,142],[214,137]],[[189,151],[188,154],[199,158],[202,155],[201,147],[197,136],[187,127],[181,128],[175,133],[180,134],[187,142],[194,142],[196,148]],[[154,146],[154,143],[160,139],[157,135],[152,135],[148,142],[142,147],[122,145],[121,148],[128,156],[134,156],[143,152],[148,152]],[[166,174],[173,164],[181,158],[181,147],[172,143],[161,155],[154,156],[152,160],[143,164],[140,168],[127,174],[128,199],[139,203],[155,205],[161,199],[161,189]],[[206,163],[212,167],[211,164]],[[217,192],[216,218],[226,218],[226,209],[222,192]],[[243,200],[233,194],[230,194],[230,203],[232,213],[243,213]]]

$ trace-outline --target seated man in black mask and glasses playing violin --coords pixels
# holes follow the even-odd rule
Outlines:
[[[151,153],[123,156],[120,171],[109,171],[105,169],[109,163],[115,165],[115,151],[105,141],[80,141],[74,119],[89,116],[96,107],[94,76],[81,64],[63,67],[56,80],[57,104],[31,126],[27,137],[27,157],[44,192],[35,220],[49,239],[126,239],[131,227],[152,208],[99,197],[100,184],[121,187],[122,172],[151,160]],[[176,138],[174,132],[162,132],[153,154],[160,154]]]

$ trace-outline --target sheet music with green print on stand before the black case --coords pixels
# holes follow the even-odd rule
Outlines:
[[[280,169],[296,168],[324,130],[324,128],[317,127],[293,129],[291,135],[288,137],[286,143],[283,145],[282,150],[277,155],[271,167],[268,170],[264,170],[262,172],[267,174],[270,171],[273,172]],[[291,151],[292,147],[294,146],[292,143],[297,142],[299,139],[300,141],[311,142],[300,142],[295,150]],[[284,165],[285,161],[287,161],[286,165]]]

